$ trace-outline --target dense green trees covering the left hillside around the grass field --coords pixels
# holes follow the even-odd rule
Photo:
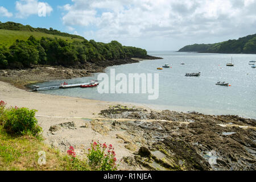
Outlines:
[[[10,30],[28,28],[30,31],[44,31],[43,28],[32,28],[13,22],[0,22],[1,28],[9,28]],[[52,28],[47,31],[51,32]],[[53,34],[69,35],[55,30],[53,30]],[[10,47],[0,47],[0,68],[27,68],[33,64],[72,67],[86,62],[104,64],[104,61],[108,60],[125,59],[127,57],[144,58],[147,56],[145,49],[122,46],[117,41],[106,44],[95,42],[94,40],[81,39],[81,41],[74,40],[72,43],[68,43],[65,39],[57,38],[42,37],[37,40],[34,36],[30,36],[26,41],[16,40]]]

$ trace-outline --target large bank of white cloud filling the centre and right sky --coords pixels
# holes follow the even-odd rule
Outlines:
[[[166,40],[246,35],[255,31],[255,0],[72,0],[63,6],[66,26],[96,27],[93,38]],[[246,27],[246,28],[245,28]],[[88,35],[89,30],[85,30]],[[255,33],[255,32],[254,32]],[[210,40],[210,39],[207,39]]]

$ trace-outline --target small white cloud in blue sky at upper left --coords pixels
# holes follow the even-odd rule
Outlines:
[[[30,15],[49,16],[53,11],[52,7],[46,2],[38,0],[19,0],[16,1],[17,18],[27,18]],[[43,15],[40,15],[42,14]]]

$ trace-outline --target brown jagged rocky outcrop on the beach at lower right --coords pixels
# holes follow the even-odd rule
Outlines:
[[[256,169],[255,119],[168,110],[103,113],[108,122],[102,123],[112,132],[123,131],[119,138],[137,148],[133,158],[123,158],[129,165],[150,170]]]

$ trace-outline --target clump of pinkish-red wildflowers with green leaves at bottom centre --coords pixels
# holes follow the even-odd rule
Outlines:
[[[109,146],[106,143],[100,142],[91,143],[91,148],[88,148],[88,163],[93,170],[100,171],[115,171],[117,170],[117,159],[112,144]]]

